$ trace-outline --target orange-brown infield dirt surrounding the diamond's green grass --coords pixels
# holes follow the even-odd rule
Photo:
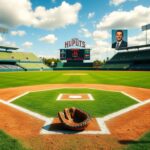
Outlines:
[[[100,90],[124,91],[146,101],[150,89],[102,84],[50,84],[0,89],[0,99],[8,101],[27,91],[56,88],[95,88]],[[0,129],[20,139],[34,150],[63,149],[120,149],[150,131],[150,104],[141,106],[106,122],[110,135],[40,135],[44,121],[0,103]]]

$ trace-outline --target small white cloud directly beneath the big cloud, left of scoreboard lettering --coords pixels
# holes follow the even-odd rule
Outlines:
[[[48,34],[44,37],[41,37],[39,40],[46,43],[54,44],[57,41],[57,37],[54,34]]]

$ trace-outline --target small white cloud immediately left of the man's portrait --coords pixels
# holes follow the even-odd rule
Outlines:
[[[108,31],[96,30],[93,32],[93,39],[108,39],[110,37]]]

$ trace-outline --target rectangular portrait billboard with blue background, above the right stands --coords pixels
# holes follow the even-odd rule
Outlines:
[[[128,30],[112,30],[112,48],[116,50],[128,47]]]

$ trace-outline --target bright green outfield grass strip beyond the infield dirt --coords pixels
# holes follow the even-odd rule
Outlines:
[[[150,88],[150,72],[83,71],[85,76],[64,76],[81,71],[0,73],[0,88],[57,83],[102,83]]]

